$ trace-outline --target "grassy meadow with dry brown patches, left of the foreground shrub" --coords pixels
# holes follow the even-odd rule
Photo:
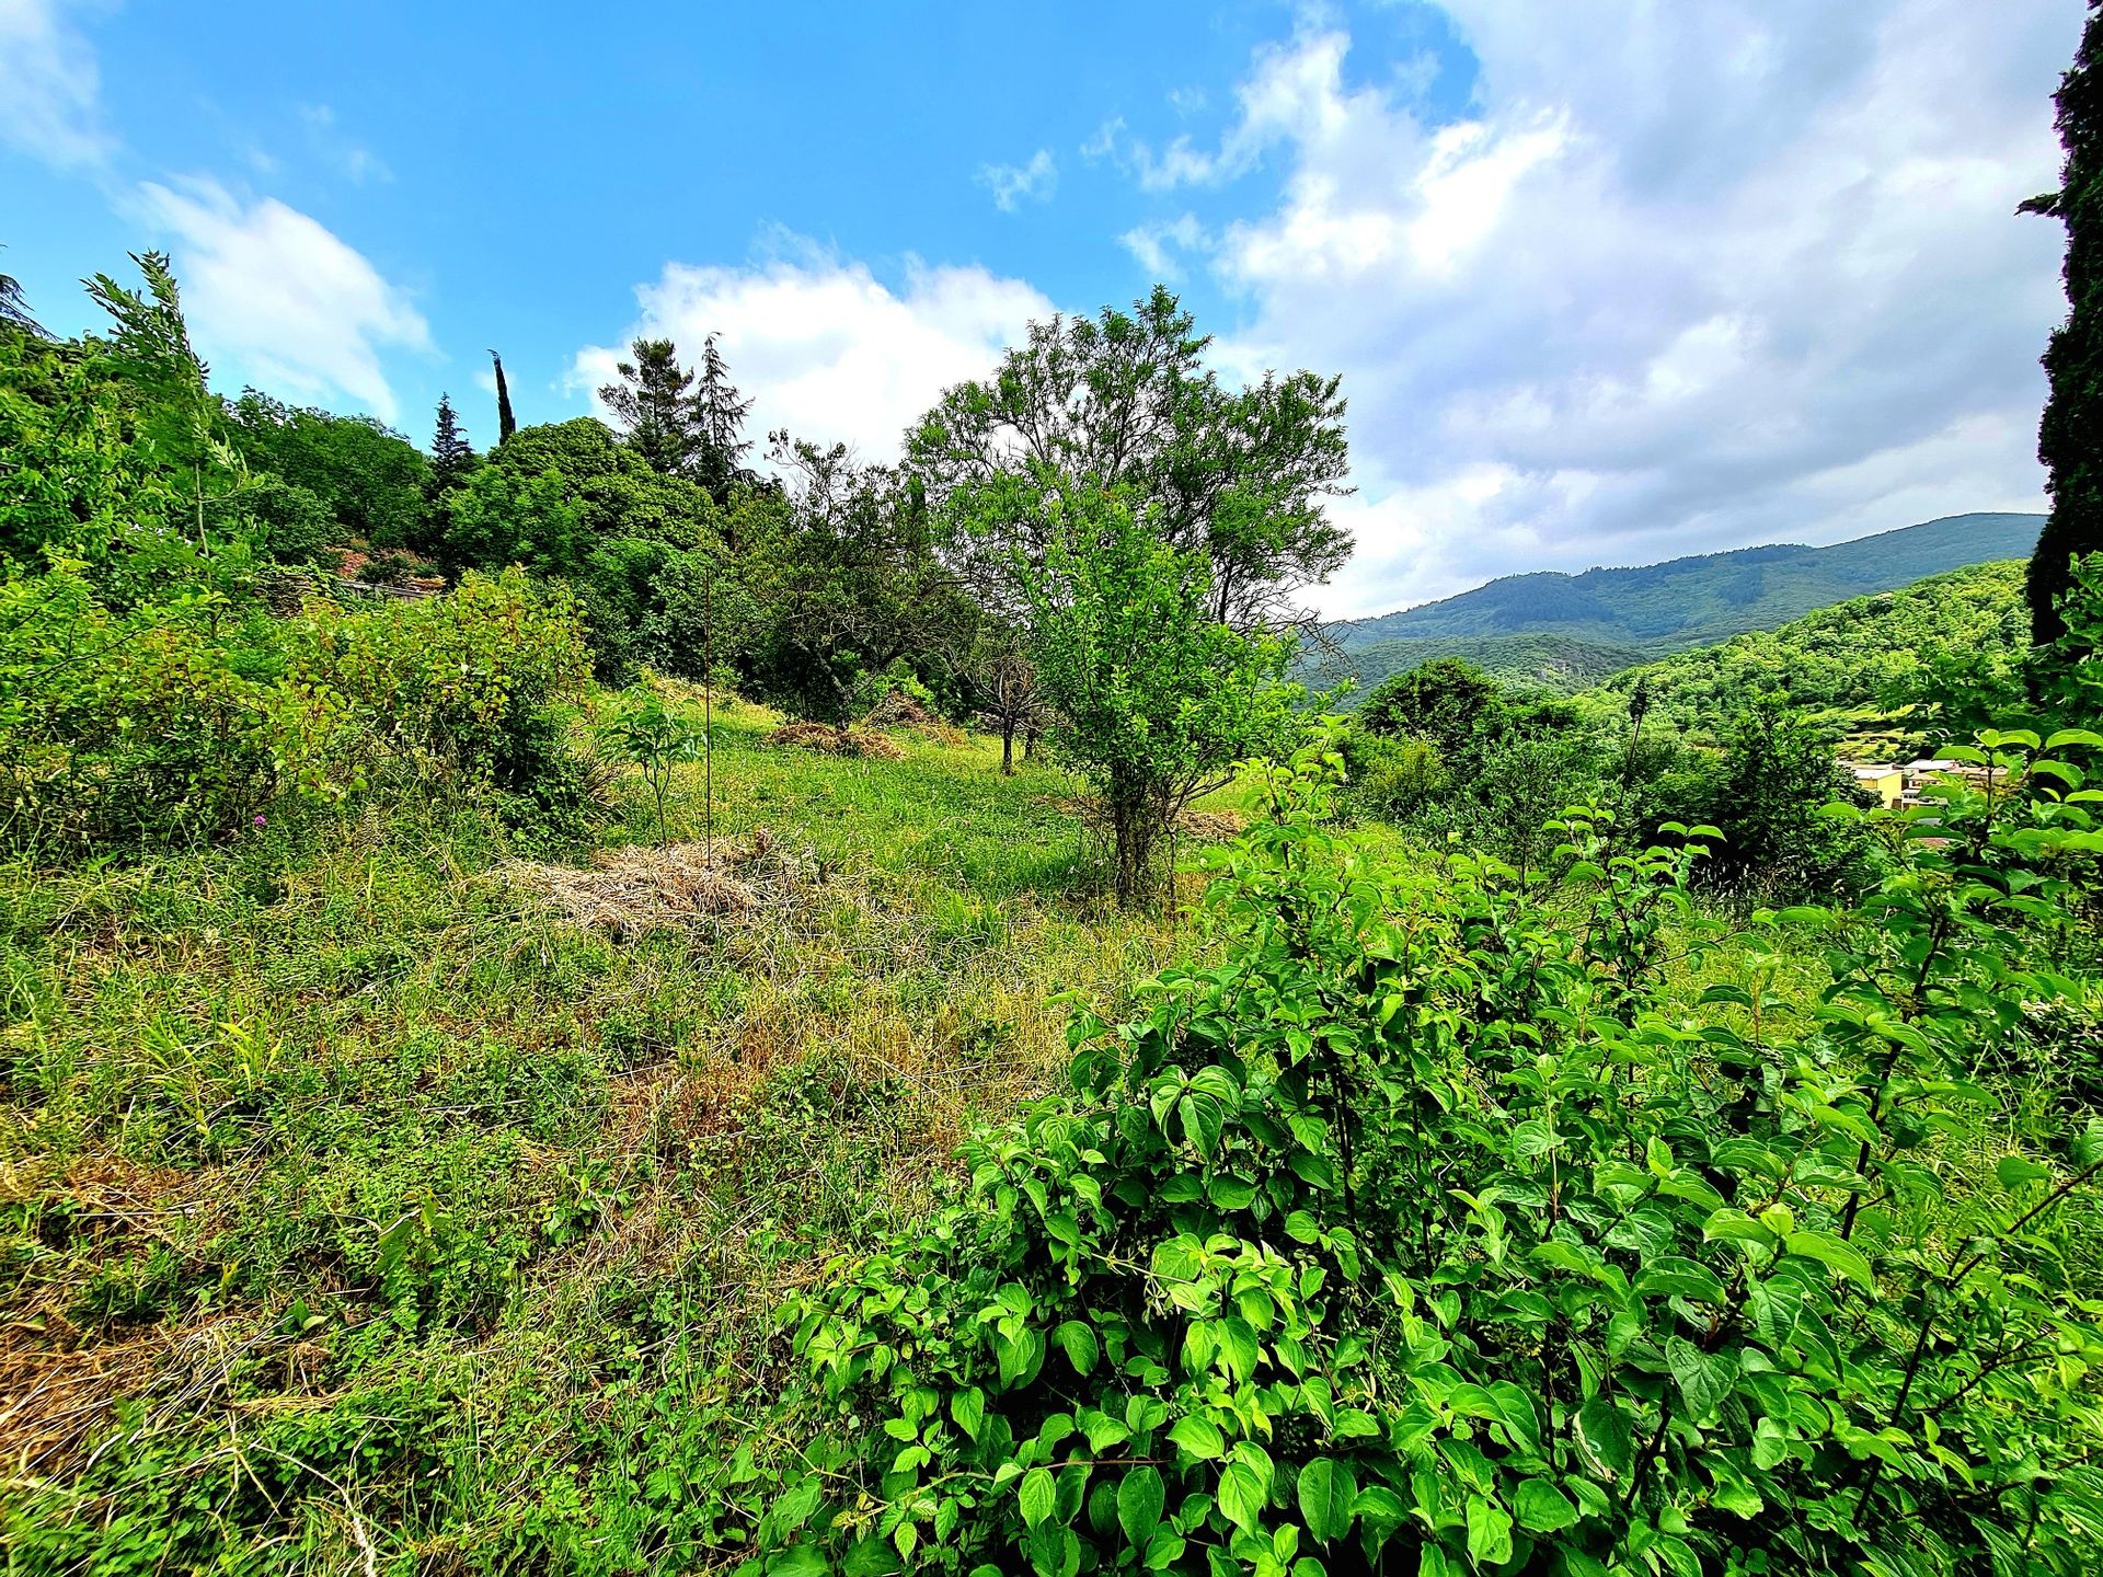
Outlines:
[[[1062,772],[778,721],[717,713],[759,900],[673,929],[572,923],[440,803],[0,875],[11,1548],[501,1566],[574,1518],[667,1556],[778,1291],[1058,1077],[1062,992],[1121,1007],[1190,940],[1073,896]],[[601,841],[654,845],[612,793]],[[669,837],[702,812],[677,767]]]

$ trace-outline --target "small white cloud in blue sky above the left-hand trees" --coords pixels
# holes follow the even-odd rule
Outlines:
[[[208,362],[233,362],[271,393],[347,395],[395,421],[381,349],[429,351],[431,332],[362,252],[275,198],[244,206],[215,181],[145,183],[139,210],[175,238],[183,309]]]

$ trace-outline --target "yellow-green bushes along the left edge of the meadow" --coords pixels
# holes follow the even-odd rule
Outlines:
[[[583,795],[555,702],[585,677],[562,591],[511,572],[448,597],[294,618],[189,585],[111,606],[86,566],[0,580],[0,841],[42,852],[227,837],[282,795],[376,774]]]

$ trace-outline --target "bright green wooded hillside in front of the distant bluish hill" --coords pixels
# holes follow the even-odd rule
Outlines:
[[[1903,591],[1853,597],[1771,631],[1676,652],[1613,675],[1588,696],[1624,709],[1638,679],[1651,717],[1680,728],[1712,725],[1760,694],[1857,738],[1907,732],[1910,700],[1952,669],[2013,669],[2029,639],[2023,566],[1975,564]]]

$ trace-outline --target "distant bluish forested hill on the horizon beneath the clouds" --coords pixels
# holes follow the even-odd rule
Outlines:
[[[1663,656],[1968,564],[2029,557],[2042,526],[2042,515],[1949,515],[1834,547],[1783,542],[1636,570],[1514,574],[1422,608],[1348,620],[1331,635],[1367,685],[1432,656],[1470,656],[1462,641],[1481,637],[1552,635]],[[1382,660],[1386,641],[1409,641],[1407,652],[1386,654],[1407,660]]]

